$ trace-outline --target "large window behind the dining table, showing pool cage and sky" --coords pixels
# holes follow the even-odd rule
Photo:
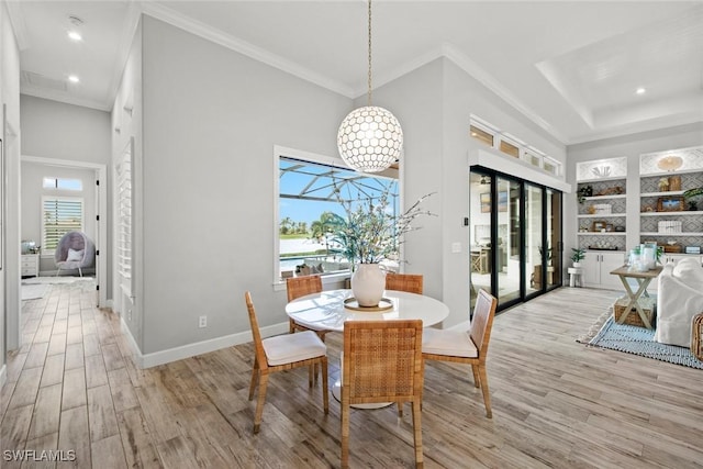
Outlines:
[[[328,158],[330,159],[330,158]],[[278,253],[276,277],[350,270],[334,242],[335,226],[346,220],[343,202],[391,194],[399,210],[397,170],[386,175],[355,172],[341,166],[279,156]]]

